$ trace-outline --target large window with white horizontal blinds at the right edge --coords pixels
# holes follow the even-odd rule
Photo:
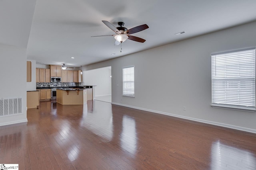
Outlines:
[[[212,54],[212,106],[255,110],[255,47]]]

